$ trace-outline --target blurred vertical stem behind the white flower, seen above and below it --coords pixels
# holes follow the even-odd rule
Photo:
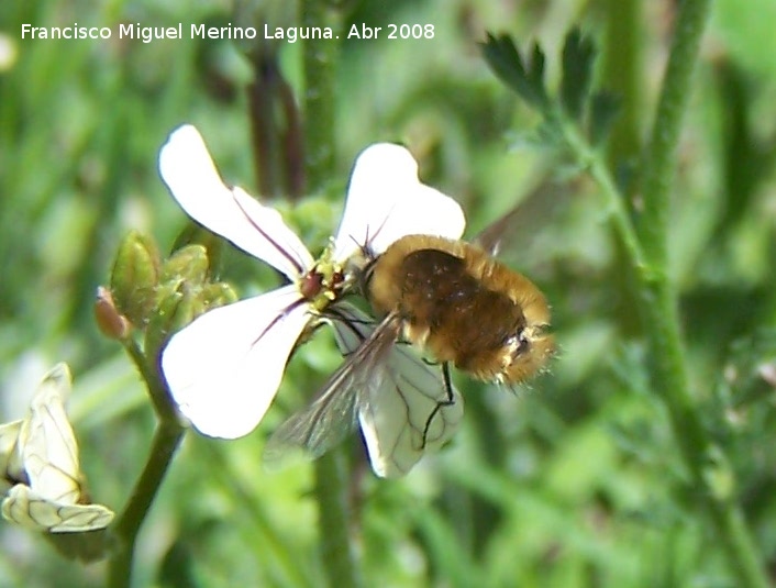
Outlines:
[[[328,24],[339,33],[337,14],[320,0],[302,0],[302,25]],[[304,167],[308,191],[320,189],[334,171],[334,63],[337,43],[304,43]],[[351,547],[347,480],[342,455],[330,452],[315,462],[315,497],[323,566],[330,586],[359,585]]]

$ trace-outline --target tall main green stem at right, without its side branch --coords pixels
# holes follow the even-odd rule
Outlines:
[[[700,40],[708,21],[710,0],[679,4],[676,31],[661,90],[652,137],[643,165],[644,213],[640,226],[644,249],[656,280],[644,285],[647,324],[655,357],[655,388],[663,393],[674,434],[695,486],[717,526],[731,569],[741,586],[767,586],[762,557],[747,529],[741,506],[714,497],[703,480],[711,440],[703,430],[689,391],[685,350],[679,332],[678,295],[668,277],[669,192],[676,167],[681,121],[690,96]]]

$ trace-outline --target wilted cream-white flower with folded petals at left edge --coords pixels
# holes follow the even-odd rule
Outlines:
[[[0,425],[2,515],[51,533],[104,529],[113,512],[85,503],[78,446],[65,414],[70,371],[57,364],[43,379],[23,421]]]

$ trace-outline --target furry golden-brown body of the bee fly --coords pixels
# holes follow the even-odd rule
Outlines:
[[[399,317],[404,339],[479,379],[520,381],[552,355],[544,296],[461,241],[400,238],[375,262],[367,296],[376,312]]]

